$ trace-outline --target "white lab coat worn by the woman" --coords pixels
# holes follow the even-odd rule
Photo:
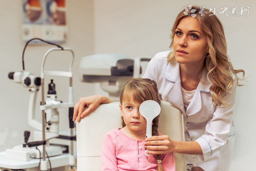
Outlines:
[[[213,107],[207,70],[202,81],[184,110],[181,94],[180,64],[168,63],[169,51],[156,54],[149,62],[144,78],[156,81],[159,94],[181,110],[184,115],[186,141],[196,141],[202,148],[203,155],[186,155],[186,163],[200,166],[206,171],[228,171],[234,147],[234,125],[232,119],[235,105],[236,81],[230,93],[222,100],[228,106]]]

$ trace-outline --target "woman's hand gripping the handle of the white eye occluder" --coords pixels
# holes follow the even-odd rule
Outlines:
[[[146,138],[144,148],[148,154],[167,154],[174,152],[174,143],[167,135],[153,136]]]

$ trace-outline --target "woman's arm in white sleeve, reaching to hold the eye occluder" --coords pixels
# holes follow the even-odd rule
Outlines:
[[[227,142],[230,125],[232,124],[235,94],[236,84],[231,87],[229,93],[222,97],[223,101],[228,105],[221,105],[215,108],[211,121],[206,125],[206,133],[195,141],[173,141],[170,140],[169,136],[148,137],[145,142],[145,148],[154,150],[148,151],[148,153],[166,154],[168,152],[177,152],[200,155],[202,160],[207,160],[214,152],[219,150],[219,147],[222,147]]]

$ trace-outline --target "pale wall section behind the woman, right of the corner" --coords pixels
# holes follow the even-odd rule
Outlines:
[[[157,52],[168,50],[172,24],[184,6],[205,5],[218,8],[223,5],[229,9],[249,6],[249,16],[222,14],[228,45],[228,54],[235,69],[244,69],[245,86],[237,88],[234,122],[236,125],[236,149],[232,170],[252,170],[256,154],[254,125],[256,120],[256,87],[254,54],[256,23],[253,0],[244,1],[204,1],[204,0],[95,0],[95,53],[118,52],[131,57],[140,55],[154,56]],[[229,14],[229,11],[226,11]]]

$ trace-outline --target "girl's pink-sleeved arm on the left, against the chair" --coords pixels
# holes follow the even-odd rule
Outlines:
[[[105,134],[101,149],[102,171],[118,171],[116,150],[113,147],[111,137]]]

